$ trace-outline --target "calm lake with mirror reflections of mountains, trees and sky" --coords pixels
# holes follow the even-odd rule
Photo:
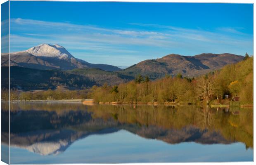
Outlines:
[[[14,102],[10,114],[11,164],[253,161],[252,108]]]

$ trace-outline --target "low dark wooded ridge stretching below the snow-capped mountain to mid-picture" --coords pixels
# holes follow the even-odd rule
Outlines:
[[[1,67],[2,87],[8,87],[8,67]],[[48,90],[58,87],[69,90],[85,89],[93,85],[117,85],[133,77],[97,68],[61,70],[39,70],[19,66],[10,67],[10,87],[19,90]]]

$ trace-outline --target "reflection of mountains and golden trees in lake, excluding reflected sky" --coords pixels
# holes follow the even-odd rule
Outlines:
[[[2,102],[1,115],[6,116]],[[244,143],[253,149],[252,108],[209,106],[93,105],[18,103],[10,105],[10,144],[43,156],[58,155],[93,134],[126,130],[167,144]],[[1,122],[4,123],[5,118]],[[1,130],[7,144],[8,130]],[[12,155],[12,153],[11,153]]]

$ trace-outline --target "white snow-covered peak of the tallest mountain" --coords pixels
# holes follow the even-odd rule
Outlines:
[[[64,47],[54,44],[40,44],[35,47],[31,47],[26,52],[33,54],[34,56],[42,57],[57,57],[59,59],[71,59],[74,58]]]

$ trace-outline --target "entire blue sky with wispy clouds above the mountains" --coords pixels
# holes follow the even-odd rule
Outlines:
[[[253,54],[252,4],[10,2],[11,52],[64,46],[90,63],[130,66],[167,54]]]

